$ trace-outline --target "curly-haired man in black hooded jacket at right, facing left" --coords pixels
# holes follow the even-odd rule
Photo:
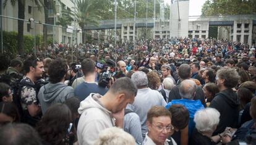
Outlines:
[[[226,126],[237,128],[239,118],[239,98],[233,91],[240,77],[234,68],[221,68],[216,74],[217,86],[220,93],[216,94],[209,107],[220,112],[220,123],[213,135],[222,133]]]

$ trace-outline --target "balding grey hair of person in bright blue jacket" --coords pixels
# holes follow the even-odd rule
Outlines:
[[[181,81],[181,85],[179,86],[179,94],[182,98],[193,99],[195,91],[197,91],[197,85],[195,84],[195,81]]]

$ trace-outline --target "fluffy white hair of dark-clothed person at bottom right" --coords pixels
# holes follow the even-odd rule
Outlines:
[[[198,110],[194,115],[195,128],[201,132],[214,132],[220,122],[220,112],[214,108]]]

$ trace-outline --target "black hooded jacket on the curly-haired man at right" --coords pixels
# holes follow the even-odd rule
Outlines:
[[[239,99],[233,89],[225,89],[216,94],[209,107],[215,108],[220,112],[220,123],[213,135],[222,133],[226,127],[237,128]]]

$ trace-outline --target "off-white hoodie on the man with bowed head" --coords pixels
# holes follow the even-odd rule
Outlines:
[[[99,104],[100,94],[91,93],[80,102],[81,117],[77,126],[79,145],[90,145],[98,138],[100,131],[115,125],[111,112]]]

